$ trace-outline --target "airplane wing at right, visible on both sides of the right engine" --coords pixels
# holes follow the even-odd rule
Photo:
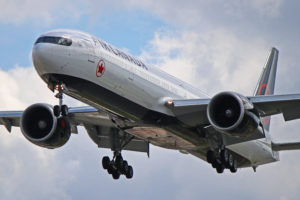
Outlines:
[[[260,117],[283,114],[285,121],[300,118],[300,94],[247,97]],[[175,116],[188,125],[209,124],[207,107],[210,99],[173,100]]]

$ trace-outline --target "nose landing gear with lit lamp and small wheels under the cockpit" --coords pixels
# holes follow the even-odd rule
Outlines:
[[[63,91],[65,90],[65,86],[63,84],[57,84],[55,89],[58,91],[55,97],[59,99],[59,105],[53,107],[54,116],[67,116],[69,114],[69,108],[67,105],[63,105]]]

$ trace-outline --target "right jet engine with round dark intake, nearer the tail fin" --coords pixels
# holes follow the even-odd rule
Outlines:
[[[222,92],[214,96],[207,108],[210,124],[230,136],[249,136],[258,129],[260,120],[252,110],[248,98],[234,93]]]

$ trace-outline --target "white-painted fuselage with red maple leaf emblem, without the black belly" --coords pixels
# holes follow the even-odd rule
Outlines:
[[[34,66],[47,84],[49,84],[50,79],[52,80],[52,76],[48,76],[49,74],[57,75],[58,78],[55,78],[55,81],[61,82],[64,81],[57,80],[60,79],[59,77],[65,76],[64,79],[73,77],[73,82],[78,82],[74,84],[80,85],[79,80],[93,83],[93,85],[109,91],[110,93],[107,95],[116,94],[132,104],[138,105],[139,108],[171,117],[174,117],[174,114],[165,106],[167,100],[208,98],[203,92],[183,81],[170,76],[156,67],[145,64],[140,59],[87,33],[57,30],[45,33],[42,36],[72,39],[72,45],[70,46],[51,43],[37,43],[34,45],[32,52]],[[129,116],[133,120],[137,119],[133,114],[127,115],[128,113],[124,113],[124,111],[119,112],[110,106],[97,103],[95,99],[97,99],[98,95],[101,95],[97,94],[99,92],[95,90],[94,95],[85,95],[84,91],[82,91],[84,94],[82,95],[78,91],[71,91],[70,94],[92,106],[105,107],[117,112],[119,115]],[[101,98],[103,97],[105,96]],[[98,99],[98,101],[101,100]],[[154,142],[154,144],[156,143]],[[156,145],[159,144],[157,143]],[[164,145],[160,146],[164,147]],[[194,144],[194,146],[197,145]],[[184,145],[180,148],[183,149]],[[228,146],[228,148],[249,159],[252,166],[277,160],[276,156],[273,155],[270,144],[265,144],[260,140],[244,142]]]

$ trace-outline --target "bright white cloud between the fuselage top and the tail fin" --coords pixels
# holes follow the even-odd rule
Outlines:
[[[158,32],[142,56],[211,95],[220,90],[251,95],[268,50],[261,38],[245,41],[229,30],[217,29],[202,34]]]

